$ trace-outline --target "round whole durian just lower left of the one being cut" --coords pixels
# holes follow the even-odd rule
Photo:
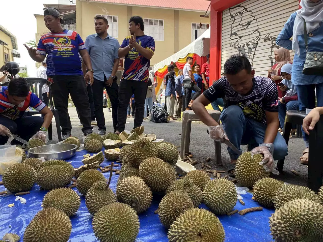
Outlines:
[[[238,194],[234,184],[227,179],[214,179],[202,191],[204,204],[217,215],[231,212],[237,203]]]

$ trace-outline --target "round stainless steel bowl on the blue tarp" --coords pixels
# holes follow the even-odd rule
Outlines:
[[[66,160],[75,156],[76,148],[77,146],[72,144],[38,146],[28,150],[28,157],[44,157],[45,160]]]

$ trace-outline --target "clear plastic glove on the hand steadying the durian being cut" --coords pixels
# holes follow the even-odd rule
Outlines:
[[[259,162],[259,165],[264,166],[265,171],[271,171],[275,175],[279,175],[279,172],[275,169],[274,165],[274,144],[272,143],[263,143],[260,144],[258,147],[255,147],[251,151],[251,157],[255,154],[262,154],[264,158],[262,161]]]

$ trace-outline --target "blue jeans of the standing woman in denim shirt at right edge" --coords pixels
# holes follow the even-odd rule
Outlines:
[[[296,85],[297,87],[297,96],[298,96],[298,105],[299,110],[305,111],[306,108],[315,108],[315,89],[316,89],[316,98],[317,106],[323,106],[323,83],[313,84],[313,85]],[[308,135],[303,132],[303,139],[306,146],[308,147]]]

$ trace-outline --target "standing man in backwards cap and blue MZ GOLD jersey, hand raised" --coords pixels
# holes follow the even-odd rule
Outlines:
[[[47,78],[52,90],[55,108],[59,113],[62,139],[71,136],[71,120],[68,115],[68,95],[71,95],[78,109],[84,135],[92,133],[89,96],[86,89],[88,80],[93,83],[93,69],[90,56],[81,36],[76,31],[62,28],[64,20],[54,8],[44,10],[44,21],[49,33],[41,36],[37,50],[27,47],[30,57],[42,62],[47,55]],[[81,55],[88,72],[83,77]],[[85,80],[84,80],[85,79]]]

